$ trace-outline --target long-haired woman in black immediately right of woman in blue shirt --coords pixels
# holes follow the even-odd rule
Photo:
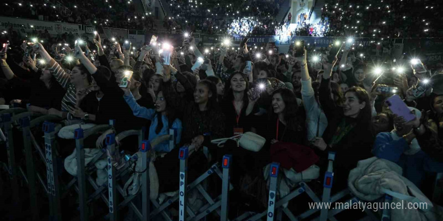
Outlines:
[[[162,90],[165,96],[170,96],[172,105],[183,112],[182,142],[179,147],[192,143],[189,146],[188,180],[192,182],[207,168],[207,160],[203,154],[202,146],[211,146],[210,141],[225,137],[225,116],[218,111],[215,85],[209,80],[197,83],[193,92],[194,100],[185,100],[177,94],[171,94],[174,90]],[[189,91],[188,91],[189,92]],[[178,151],[174,148],[163,158],[157,158],[150,164],[150,177],[158,178],[158,182],[151,182],[152,197],[155,192],[176,191],[179,180],[175,174],[179,173]],[[192,153],[192,154],[191,154]],[[156,180],[156,179],[151,179]]]

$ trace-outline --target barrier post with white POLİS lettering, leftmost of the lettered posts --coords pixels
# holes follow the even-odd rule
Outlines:
[[[58,182],[57,155],[52,150],[55,141],[55,125],[50,122],[43,123],[45,133],[46,172],[48,180],[48,198],[50,218],[61,220],[60,211],[60,186]]]

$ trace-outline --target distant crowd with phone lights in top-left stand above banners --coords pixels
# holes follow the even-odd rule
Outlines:
[[[26,3],[5,0],[0,7],[0,15],[9,17],[132,30],[158,29],[154,15],[136,13],[132,0],[59,1],[57,4],[43,0]],[[95,10],[94,13],[91,9]]]

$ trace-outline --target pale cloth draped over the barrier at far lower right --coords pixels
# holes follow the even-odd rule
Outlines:
[[[348,187],[358,198],[374,201],[385,195],[385,189],[413,196],[420,202],[426,203],[428,209],[409,209],[407,202],[393,197],[392,203],[404,204],[405,208],[393,208],[392,221],[403,220],[442,220],[443,208],[432,202],[411,181],[402,176],[402,168],[396,163],[377,157],[360,160],[357,167],[349,172]],[[405,200],[408,201],[408,200]]]

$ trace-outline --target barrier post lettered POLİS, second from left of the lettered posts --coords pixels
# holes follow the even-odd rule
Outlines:
[[[118,154],[118,149],[115,147],[115,134],[108,134],[106,136],[106,145],[108,151],[108,195],[109,195],[109,216],[111,221],[118,220],[117,214],[117,179],[116,168],[114,167],[115,156]],[[117,162],[118,163],[118,162]]]

